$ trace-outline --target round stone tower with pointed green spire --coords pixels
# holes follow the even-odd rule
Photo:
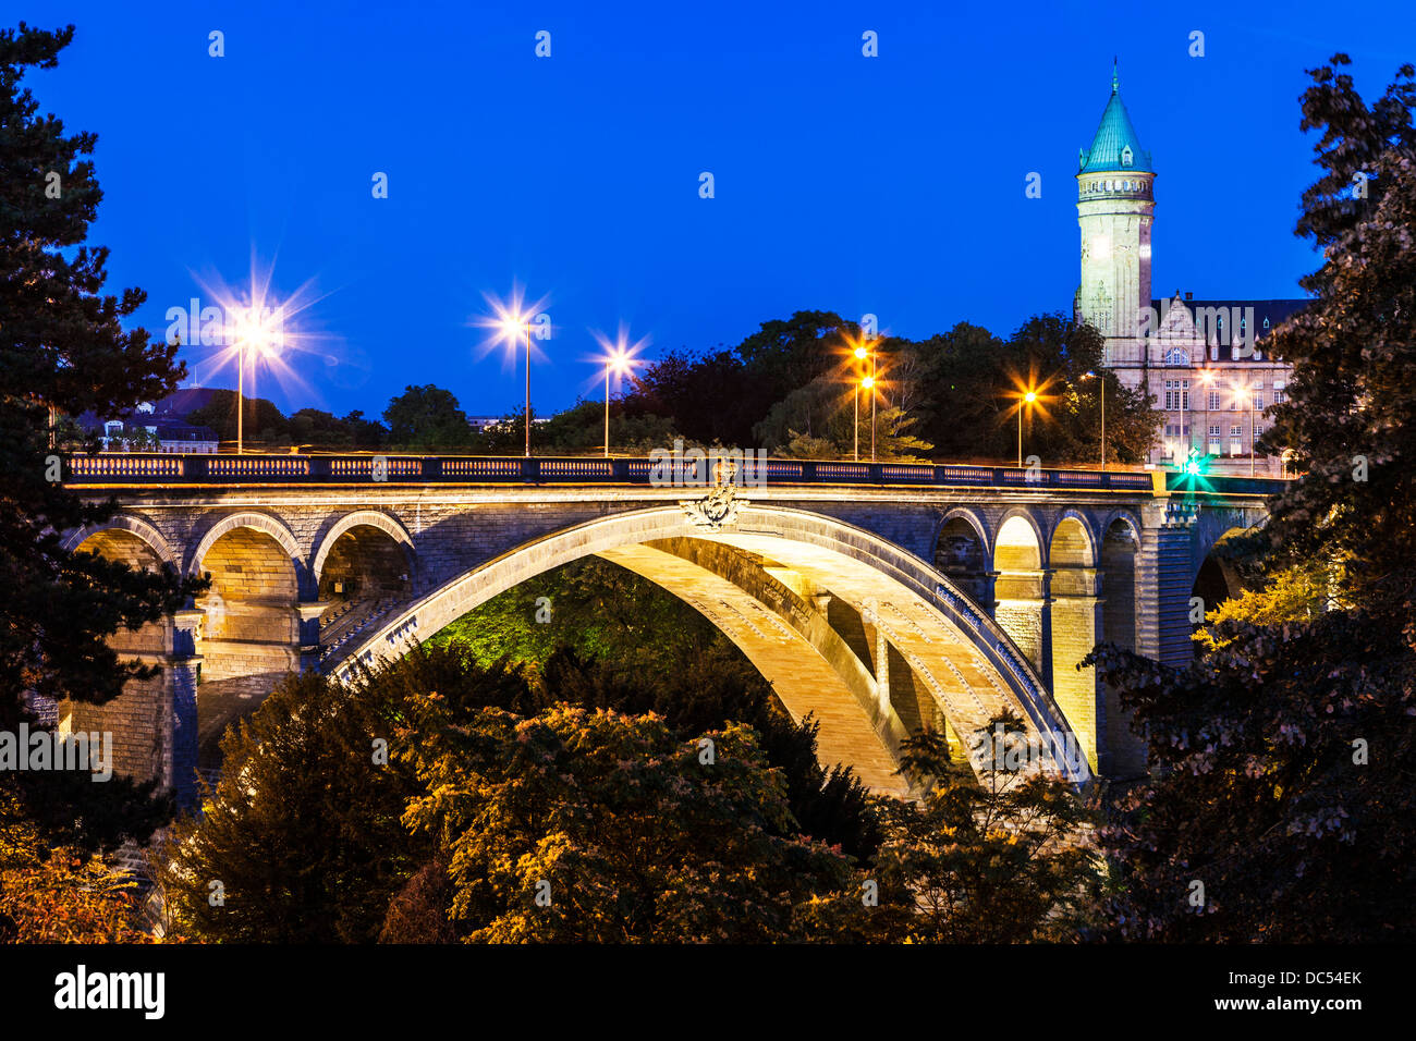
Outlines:
[[[1082,228],[1082,280],[1076,316],[1106,337],[1106,364],[1141,365],[1141,309],[1151,303],[1151,221],[1155,171],[1121,102],[1112,68],[1112,96],[1092,147],[1078,160],[1078,224]]]

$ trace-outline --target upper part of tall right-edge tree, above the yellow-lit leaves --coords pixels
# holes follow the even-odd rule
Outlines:
[[[1270,340],[1293,377],[1264,443],[1289,449],[1300,476],[1253,550],[1267,571],[1337,565],[1344,596],[1416,644],[1416,69],[1403,65],[1368,108],[1348,64],[1338,54],[1310,69],[1303,95],[1324,176],[1297,232],[1324,262],[1303,280],[1317,299]]]

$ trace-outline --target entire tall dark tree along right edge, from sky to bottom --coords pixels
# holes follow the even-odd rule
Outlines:
[[[1233,540],[1263,585],[1185,669],[1090,659],[1151,761],[1102,834],[1123,939],[1416,938],[1416,86],[1403,65],[1368,108],[1347,64],[1303,95],[1324,173],[1297,234],[1323,266],[1269,341],[1293,377],[1267,448],[1300,477]]]

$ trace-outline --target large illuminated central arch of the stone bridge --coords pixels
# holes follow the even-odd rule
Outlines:
[[[392,616],[336,667],[398,657],[520,582],[599,555],[675,593],[736,643],[797,718],[820,721],[824,762],[899,792],[902,738],[947,724],[969,736],[1011,710],[1058,768],[1089,779],[1046,686],[959,586],[898,545],[806,510],[739,504],[736,523],[695,525],[678,506],[619,513],[525,542]],[[981,766],[983,748],[964,749]]]

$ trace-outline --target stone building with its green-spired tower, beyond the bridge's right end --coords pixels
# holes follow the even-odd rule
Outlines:
[[[1165,412],[1157,465],[1209,455],[1212,470],[1276,474],[1280,460],[1252,457],[1283,401],[1290,367],[1264,339],[1306,300],[1195,300],[1151,296],[1155,167],[1121,102],[1117,75],[1089,149],[1078,163],[1082,278],[1073,310],[1106,339],[1104,364],[1124,387],[1144,388]]]

